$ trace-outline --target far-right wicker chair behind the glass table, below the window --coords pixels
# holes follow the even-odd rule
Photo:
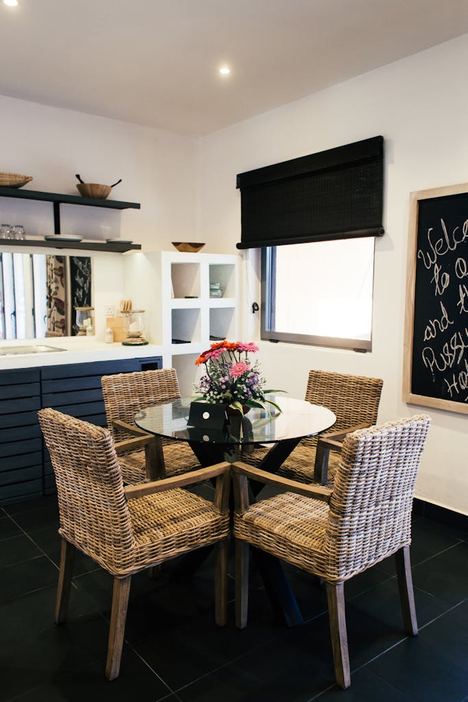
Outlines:
[[[302,439],[281,465],[279,475],[299,482],[331,486],[340,462],[344,437],[349,432],[377,422],[382,385],[380,378],[310,371],[305,399],[331,409],[336,415],[336,423],[333,430],[322,437]],[[262,457],[255,455],[257,458]],[[257,460],[246,460],[258,464]]]

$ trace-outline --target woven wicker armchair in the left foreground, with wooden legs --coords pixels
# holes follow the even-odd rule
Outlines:
[[[131,576],[201,546],[215,544],[215,621],[227,618],[229,464],[123,488],[107,429],[53,409],[39,411],[58,489],[62,557],[55,621],[67,616],[75,550],[114,576],[106,675],[119,675]],[[214,503],[182,486],[216,477]]]

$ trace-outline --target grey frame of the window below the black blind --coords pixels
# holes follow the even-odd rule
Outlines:
[[[276,246],[263,246],[261,255],[261,305],[260,338],[262,340],[293,343],[307,346],[326,346],[357,352],[372,351],[373,336],[373,298],[375,277],[375,249],[373,256],[372,277],[372,311],[370,318],[370,339],[342,338],[337,336],[319,336],[313,334],[295,334],[284,331],[272,331],[274,326],[274,299],[276,297]]]

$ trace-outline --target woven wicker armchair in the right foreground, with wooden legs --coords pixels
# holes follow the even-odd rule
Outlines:
[[[247,624],[248,544],[326,582],[335,677],[349,687],[345,581],[396,556],[403,621],[417,621],[410,569],[411,506],[430,418],[414,416],[348,434],[333,491],[234,463],[236,625]],[[247,479],[285,490],[248,504]]]

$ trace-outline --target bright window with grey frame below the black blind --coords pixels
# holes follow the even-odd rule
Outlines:
[[[374,238],[262,249],[262,339],[371,349]]]

